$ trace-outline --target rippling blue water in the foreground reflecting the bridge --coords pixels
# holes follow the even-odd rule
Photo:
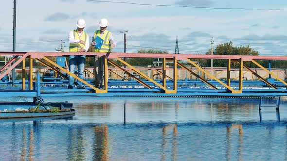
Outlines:
[[[280,122],[270,108],[260,123],[256,101],[250,100],[86,103],[69,120],[0,123],[0,159],[286,160],[282,106]]]

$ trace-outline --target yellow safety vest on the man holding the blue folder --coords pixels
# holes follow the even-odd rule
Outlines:
[[[102,36],[101,36],[101,31],[100,30],[97,30],[97,31],[95,31],[95,33],[94,33],[94,39],[97,37],[97,36],[99,36],[99,37],[101,37],[103,40],[104,40],[104,43],[103,43],[103,45],[102,45],[102,48],[99,50],[99,49],[97,49],[97,48],[95,48],[94,49],[94,52],[110,52],[110,46],[111,46],[111,44],[110,44],[110,42],[109,42],[109,35],[110,35],[110,32],[107,30],[107,31],[105,31],[105,33],[104,34],[102,34]]]

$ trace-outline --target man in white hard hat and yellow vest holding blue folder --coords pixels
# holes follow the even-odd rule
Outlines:
[[[111,52],[112,48],[114,48],[117,44],[114,40],[114,37],[111,32],[107,30],[108,27],[108,20],[106,18],[102,18],[99,22],[100,30],[96,30],[93,37],[92,37],[92,45],[96,45],[95,38],[99,36],[103,39],[103,45],[101,49],[94,48],[94,52]],[[95,75],[95,86],[97,88],[104,87],[104,59],[105,57],[95,57],[94,63],[94,75]]]

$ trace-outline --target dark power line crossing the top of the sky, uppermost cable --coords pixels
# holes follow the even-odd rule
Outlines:
[[[136,4],[145,6],[161,6],[161,7],[185,7],[185,8],[203,8],[203,9],[220,9],[220,10],[259,10],[259,11],[287,11],[287,9],[260,9],[260,8],[223,8],[223,7],[199,7],[199,6],[185,6],[185,5],[165,5],[165,4],[147,4],[147,3],[132,3],[121,1],[108,1],[108,0],[86,0],[97,1],[106,3],[122,3],[122,4]]]

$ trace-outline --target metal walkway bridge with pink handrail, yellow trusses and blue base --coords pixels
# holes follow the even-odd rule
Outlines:
[[[2,97],[39,97],[39,96],[142,96],[142,97],[261,97],[261,96],[287,96],[287,83],[285,78],[279,77],[269,69],[263,67],[258,63],[260,60],[287,60],[287,56],[250,56],[250,55],[198,55],[198,54],[149,54],[149,53],[95,53],[95,52],[0,52],[1,56],[10,55],[13,58],[0,69],[0,79],[11,72],[17,65],[22,67],[21,75],[21,88],[2,89],[0,90],[0,96]],[[69,55],[86,55],[86,56],[105,56],[104,59],[104,73],[105,73],[105,85],[104,89],[98,89],[93,84],[93,71],[90,72],[91,79],[80,79],[75,74],[72,74],[68,69],[56,64],[49,57],[69,56]],[[125,62],[122,58],[157,58],[161,59],[161,67],[153,69],[160,77],[155,79],[153,76],[149,76],[146,72],[143,72],[142,67],[132,66]],[[25,60],[29,59],[30,63],[25,64]],[[225,80],[219,79],[212,70],[200,67],[196,62],[192,60],[201,59],[222,59],[228,62],[225,68],[226,76]],[[87,86],[84,90],[68,90],[66,89],[44,89],[41,84],[44,82],[40,80],[40,75],[33,80],[33,61],[40,62],[47,68],[50,68],[57,73],[61,80],[68,79],[67,75],[71,75],[75,80],[81,81]],[[184,61],[185,63],[181,63]],[[265,72],[264,75],[260,75],[257,71],[251,69],[246,62],[255,64],[258,69]],[[231,63],[238,64],[237,79],[233,81],[231,78]],[[108,68],[108,64],[112,68]],[[172,67],[167,67],[167,64],[171,64]],[[188,64],[188,65],[186,65]],[[125,67],[124,67],[125,65]],[[28,72],[26,70],[29,68]],[[192,67],[191,67],[192,66]],[[168,68],[168,69],[167,69]],[[257,70],[258,70],[257,69]],[[115,72],[120,71],[120,74]],[[169,72],[167,74],[167,70]],[[187,73],[197,78],[197,84],[204,84],[204,88],[184,88],[182,87],[182,80],[178,80],[179,70],[185,70]],[[280,71],[280,70],[279,70]],[[243,88],[244,74],[251,73],[257,78],[258,81],[252,81],[251,84],[264,84],[267,88],[258,89],[245,89]],[[25,80],[25,74],[28,74],[31,78],[28,81]],[[113,81],[109,76],[116,75],[120,78],[120,81]],[[124,75],[127,75],[129,80],[124,79]],[[204,76],[203,76],[204,75]],[[269,78],[266,78],[269,75]],[[270,77],[272,79],[270,79]],[[280,84],[281,88],[274,83]],[[188,84],[188,80],[185,80]],[[115,88],[109,84],[128,84],[136,82],[141,87],[129,87]],[[26,86],[28,85],[28,87]],[[34,85],[33,85],[34,84]]]

